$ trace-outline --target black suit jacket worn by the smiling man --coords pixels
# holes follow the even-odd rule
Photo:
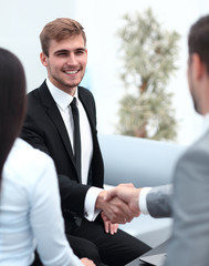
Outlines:
[[[72,219],[73,216],[83,217],[84,200],[90,185],[103,187],[104,182],[104,165],[97,140],[94,98],[88,90],[82,86],[79,86],[79,98],[87,114],[93,137],[93,158],[88,173],[88,185],[81,184],[66,127],[45,82],[28,94],[28,112],[21,133],[23,140],[48,153],[54,160],[65,219]]]

